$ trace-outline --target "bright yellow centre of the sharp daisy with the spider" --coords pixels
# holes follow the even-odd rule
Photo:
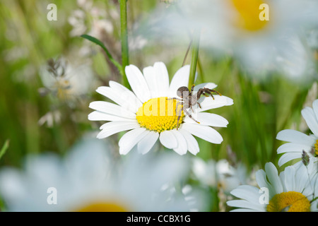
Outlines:
[[[182,123],[184,113],[182,105],[177,100],[167,97],[158,97],[148,100],[139,107],[136,119],[141,125],[151,131],[158,133],[177,128]]]

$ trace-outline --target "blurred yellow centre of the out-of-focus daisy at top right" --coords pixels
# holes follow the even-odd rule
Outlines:
[[[262,10],[259,9],[264,1],[261,0],[230,0],[235,8],[234,25],[247,31],[258,31],[263,29],[269,20],[260,20],[259,14]]]

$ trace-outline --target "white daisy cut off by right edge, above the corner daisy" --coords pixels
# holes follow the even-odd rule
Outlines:
[[[280,131],[276,139],[280,141],[288,141],[277,149],[277,153],[284,153],[278,160],[281,166],[290,160],[300,159],[302,151],[305,150],[310,157],[318,156],[318,100],[314,100],[311,107],[302,109],[302,117],[305,119],[307,126],[313,134],[307,135],[293,129],[285,129]]]

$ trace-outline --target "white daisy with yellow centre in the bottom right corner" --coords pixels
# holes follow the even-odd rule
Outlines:
[[[316,169],[312,170],[313,167]],[[268,162],[265,171],[257,171],[256,179],[260,189],[241,185],[231,191],[233,196],[242,198],[227,202],[237,208],[232,211],[318,211],[317,164],[289,166],[278,176],[276,167]]]

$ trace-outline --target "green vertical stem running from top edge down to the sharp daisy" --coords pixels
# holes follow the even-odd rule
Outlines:
[[[127,7],[126,0],[120,0],[120,39],[122,43],[122,81],[129,88],[125,67],[129,65],[128,35],[127,35]]]

